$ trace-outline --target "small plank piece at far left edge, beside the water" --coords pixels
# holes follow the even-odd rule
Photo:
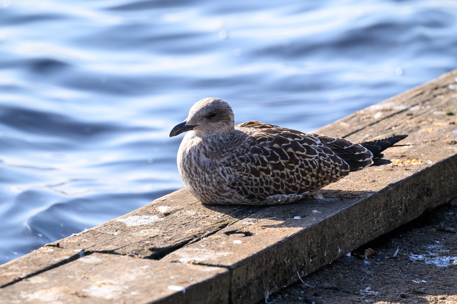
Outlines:
[[[41,249],[0,265],[0,287],[32,277],[47,269],[71,262],[80,257],[79,250],[69,251],[55,246]]]

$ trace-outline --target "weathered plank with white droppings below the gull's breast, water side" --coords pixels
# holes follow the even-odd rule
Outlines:
[[[217,206],[208,209],[189,191],[181,189],[59,243],[72,250],[82,248],[85,252],[159,259],[264,208]]]

